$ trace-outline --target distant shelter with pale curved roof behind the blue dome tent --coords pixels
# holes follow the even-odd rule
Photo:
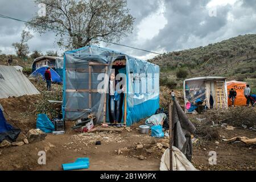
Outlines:
[[[32,72],[36,71],[36,69],[48,66],[49,68],[56,68],[56,60],[58,60],[57,65],[60,64],[60,61],[63,61],[63,57],[55,57],[55,56],[41,56],[34,59],[32,63]]]

